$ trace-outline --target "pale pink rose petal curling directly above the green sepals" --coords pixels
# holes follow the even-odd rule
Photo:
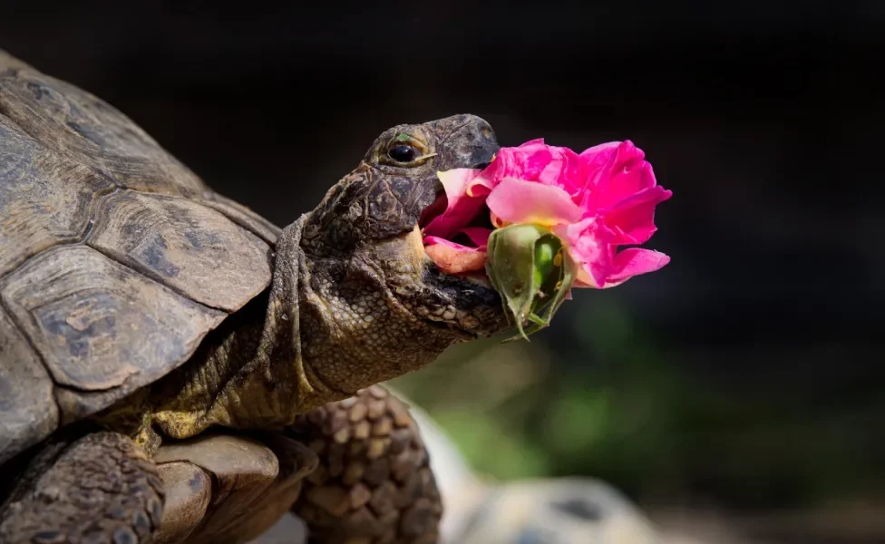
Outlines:
[[[510,223],[550,226],[575,222],[582,215],[563,189],[512,178],[491,190],[486,205],[495,217]]]

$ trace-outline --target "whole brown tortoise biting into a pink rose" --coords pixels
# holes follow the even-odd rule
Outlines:
[[[384,131],[286,228],[122,112],[0,51],[0,542],[433,542],[407,405],[379,384],[507,327],[423,251],[438,170],[488,122]]]

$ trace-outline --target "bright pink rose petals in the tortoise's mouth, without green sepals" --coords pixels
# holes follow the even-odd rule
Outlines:
[[[483,270],[492,228],[518,224],[549,228],[561,240],[576,265],[573,287],[618,286],[670,260],[651,249],[618,251],[652,237],[656,205],[673,194],[657,185],[631,141],[576,153],[532,140],[502,148],[484,170],[439,177],[445,199],[425,213],[423,234],[427,254],[447,273]]]

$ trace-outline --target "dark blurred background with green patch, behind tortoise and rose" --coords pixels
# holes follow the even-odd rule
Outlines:
[[[457,112],[502,145],[630,139],[674,191],[666,268],[395,382],[477,471],[599,478],[687,532],[885,542],[885,3],[160,4],[6,0],[0,48],[279,225],[379,132]]]

